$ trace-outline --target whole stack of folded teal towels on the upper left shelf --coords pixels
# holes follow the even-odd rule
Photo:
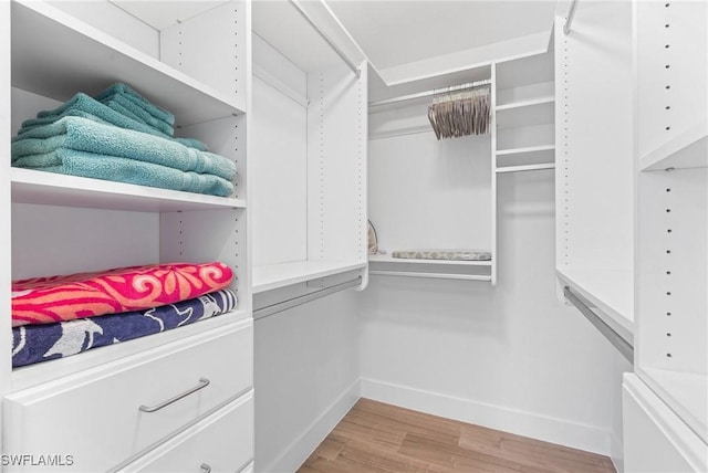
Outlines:
[[[192,138],[173,137],[175,117],[125,84],[95,98],[79,93],[22,124],[12,166],[227,197],[236,165]]]

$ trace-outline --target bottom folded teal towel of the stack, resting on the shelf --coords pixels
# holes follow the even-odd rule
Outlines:
[[[60,148],[53,153],[60,164],[39,170],[219,197],[228,197],[233,192],[231,182],[212,175],[183,172],[152,162],[74,149]]]

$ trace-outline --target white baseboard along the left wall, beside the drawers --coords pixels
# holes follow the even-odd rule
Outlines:
[[[346,388],[270,465],[256,465],[257,472],[292,473],[320,445],[342,418],[361,398],[360,380]]]

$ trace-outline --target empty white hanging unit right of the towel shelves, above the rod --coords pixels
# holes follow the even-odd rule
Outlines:
[[[321,7],[253,7],[258,308],[291,298],[293,291],[308,295],[308,282],[351,271],[357,271],[358,286],[365,285],[367,71],[361,53]],[[279,290],[282,297],[261,297]]]

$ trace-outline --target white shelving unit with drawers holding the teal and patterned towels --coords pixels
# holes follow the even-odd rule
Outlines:
[[[11,264],[2,265],[0,297],[9,308],[10,281],[23,277],[221,261],[236,275],[231,288],[238,296],[237,309],[188,327],[14,370],[11,337],[3,337],[8,356],[0,364],[2,453],[60,450],[75,454],[67,471],[129,470],[154,458],[156,448],[165,464],[177,464],[180,452],[165,445],[171,445],[168,439],[179,438],[196,445],[190,459],[178,462],[180,467],[199,469],[205,463],[237,471],[253,459],[246,126],[250,2],[205,6],[188,18],[174,18],[173,7],[169,2],[146,6],[169,23],[158,27],[152,25],[152,17],[132,18],[106,2],[101,21],[121,19],[116,31],[123,38],[117,38],[91,24],[95,20],[91,13],[80,19],[75,17],[83,15],[80,10],[69,13],[61,2],[4,2],[0,30],[7,32],[8,41],[2,42],[1,53],[1,139],[9,149],[19,124],[37,112],[54,108],[77,92],[92,95],[124,82],[173,112],[179,136],[198,138],[236,162],[235,195],[220,198],[15,169],[7,159],[0,174],[0,209],[11,223],[2,225],[7,245],[2,254],[11,255]],[[143,51],[126,43],[138,33],[152,39],[155,49]],[[212,61],[212,54],[221,60]],[[10,317],[3,317],[1,325],[9,333]],[[238,362],[221,370],[212,362],[217,356]],[[199,401],[186,396],[177,401],[181,409],[166,408],[179,414],[138,411],[140,404],[159,403],[188,390],[200,378],[209,382],[199,381]],[[115,386],[122,387],[121,396]],[[55,418],[49,411],[67,417],[50,422]],[[85,416],[71,413],[77,411]],[[82,427],[85,419],[100,417],[100,427]],[[214,421],[226,418],[232,422]],[[66,431],[73,434],[65,435]],[[208,444],[226,437],[243,439],[242,448],[216,455]]]

